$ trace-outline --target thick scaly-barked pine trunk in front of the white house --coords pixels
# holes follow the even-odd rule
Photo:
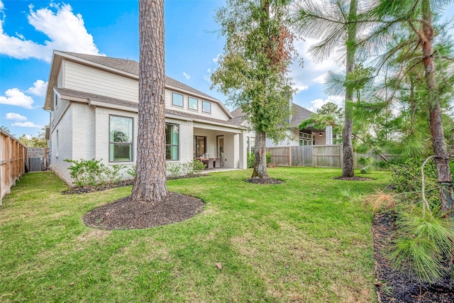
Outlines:
[[[139,35],[138,138],[131,199],[159,203],[167,197],[163,0],[139,0]]]

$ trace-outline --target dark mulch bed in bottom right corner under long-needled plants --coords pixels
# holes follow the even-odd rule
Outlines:
[[[399,272],[389,265],[385,253],[392,242],[394,229],[392,215],[375,216],[372,233],[374,236],[375,288],[379,302],[454,302],[454,282],[449,275],[434,284],[421,283],[409,272]]]

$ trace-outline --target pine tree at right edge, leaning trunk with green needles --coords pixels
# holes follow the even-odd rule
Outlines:
[[[443,99],[446,94],[452,97],[453,75],[445,75],[445,71],[452,71],[451,63],[443,61],[443,46],[434,48],[437,28],[433,22],[433,12],[436,8],[443,7],[451,1],[443,0],[381,0],[374,15],[380,20],[380,26],[372,32],[372,36],[389,38],[393,33],[408,31],[409,38],[388,50],[383,56],[384,60],[392,57],[395,50],[409,46],[411,50],[417,50],[402,55],[402,70],[414,70],[421,68],[423,76],[421,84],[414,92],[418,92],[423,101],[421,106],[427,109],[428,126],[431,133],[433,155],[437,168],[437,181],[441,185],[440,197],[443,211],[449,211],[453,201],[453,180],[449,166],[449,154],[445,142],[443,130]],[[452,48],[451,48],[452,49]],[[436,62],[437,59],[437,62]],[[447,68],[450,64],[451,67]],[[413,83],[417,77],[411,78]],[[449,97],[448,97],[449,98]],[[416,104],[414,104],[416,106]],[[451,216],[454,213],[451,212]]]

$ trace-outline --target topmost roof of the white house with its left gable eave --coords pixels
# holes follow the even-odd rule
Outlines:
[[[50,67],[50,75],[48,82],[49,84],[44,109],[52,108],[52,88],[56,86],[57,83],[56,75],[58,73],[58,69],[60,67],[61,60],[63,57],[66,60],[79,62],[84,65],[91,65],[103,70],[108,70],[109,72],[114,72],[126,77],[131,77],[133,79],[138,79],[139,76],[139,63],[134,60],[106,57],[101,55],[85,55],[79,53],[70,53],[54,50],[54,55],[52,57],[52,66]],[[52,75],[54,77],[52,77]],[[209,101],[214,101],[218,103],[221,106],[221,109],[223,109],[223,111],[227,114],[227,116],[231,118],[230,112],[226,109],[225,106],[223,106],[221,101],[215,99],[214,97],[209,96],[208,94],[205,94],[204,92],[200,92],[197,89],[189,87],[188,85],[167,76],[165,76],[165,87],[167,89],[189,92],[196,96],[203,97],[204,99],[207,99]]]

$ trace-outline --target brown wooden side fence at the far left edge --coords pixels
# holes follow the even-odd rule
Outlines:
[[[27,148],[16,138],[0,131],[0,205],[1,199],[26,172]]]

